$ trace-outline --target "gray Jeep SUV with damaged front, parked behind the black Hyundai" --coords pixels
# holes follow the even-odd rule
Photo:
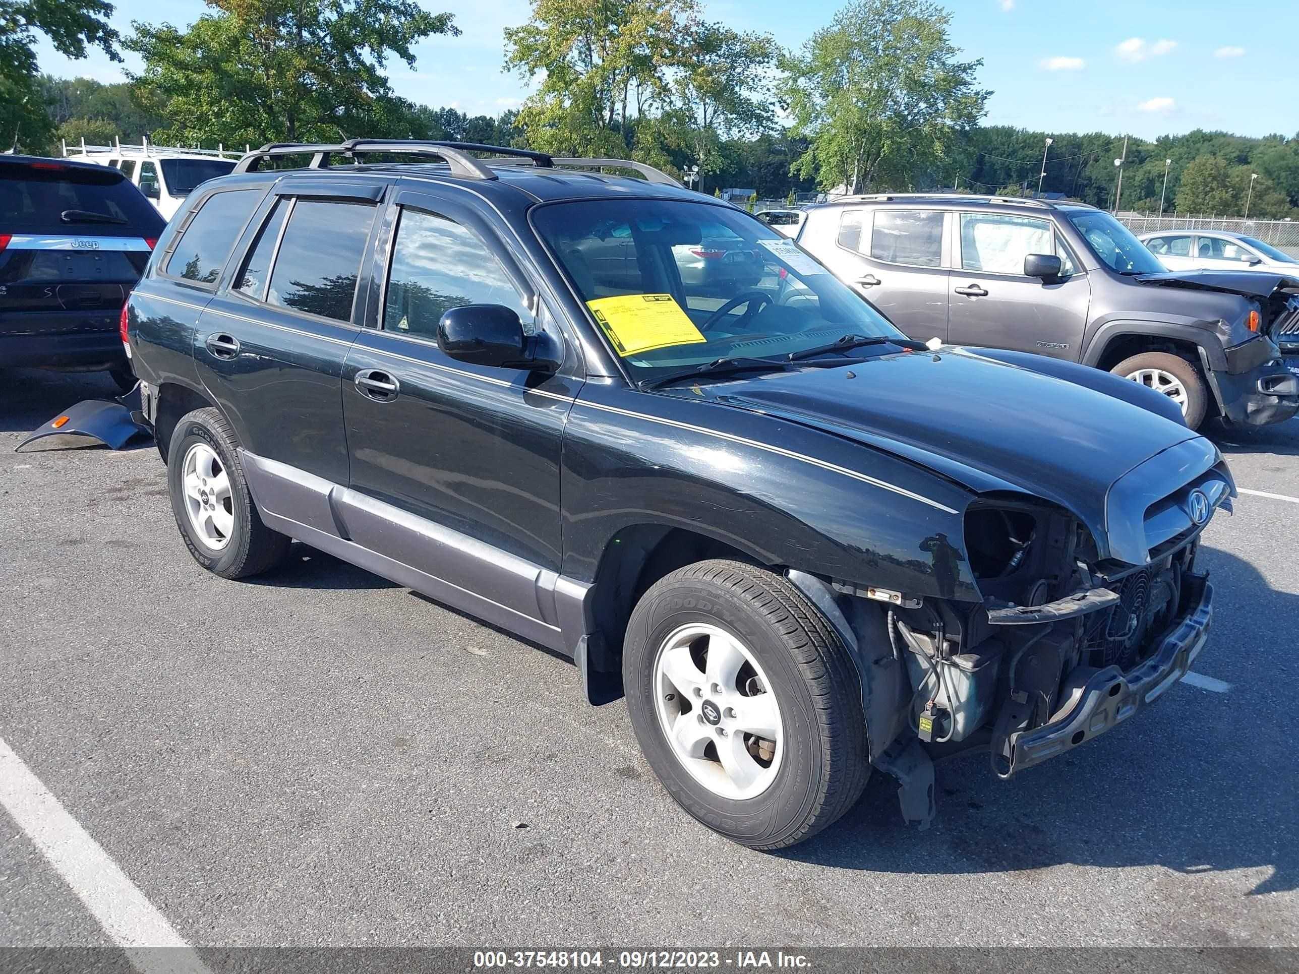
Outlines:
[[[811,208],[798,242],[909,338],[1105,369],[1173,399],[1191,429],[1299,412],[1299,357],[1282,353],[1299,278],[1170,274],[1094,206],[855,196]]]

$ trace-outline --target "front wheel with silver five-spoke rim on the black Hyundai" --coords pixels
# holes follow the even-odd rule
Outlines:
[[[870,774],[857,674],[787,579],[701,561],[656,582],[624,643],[631,726],[677,803],[742,845],[811,838]]]

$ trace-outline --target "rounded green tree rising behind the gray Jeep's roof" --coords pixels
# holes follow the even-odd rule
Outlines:
[[[782,58],[794,132],[811,142],[798,171],[822,188],[909,188],[947,158],[991,94],[974,83],[982,61],[956,60],[950,23],[925,0],[856,0]]]

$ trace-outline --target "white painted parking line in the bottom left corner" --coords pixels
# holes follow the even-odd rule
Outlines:
[[[208,974],[194,948],[3,738],[0,805],[126,952],[131,966],[142,974]]]

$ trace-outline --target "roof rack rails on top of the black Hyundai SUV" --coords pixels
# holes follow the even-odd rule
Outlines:
[[[475,158],[469,152],[490,152],[498,158]],[[301,156],[310,153],[312,161],[308,169],[329,169],[330,156],[346,156],[357,160],[362,155],[390,153],[407,156],[434,156],[443,160],[452,175],[464,179],[496,179],[491,170],[492,165],[522,165],[531,162],[538,169],[553,169],[556,166],[574,166],[582,169],[630,169],[640,173],[646,181],[660,186],[677,186],[681,183],[662,170],[633,162],[625,158],[555,158],[544,152],[520,149],[512,145],[486,145],[477,142],[431,142],[416,139],[348,139],[339,143],[297,143],[277,142],[253,149],[235,166],[235,173],[252,173],[261,165],[262,160],[277,156]]]

